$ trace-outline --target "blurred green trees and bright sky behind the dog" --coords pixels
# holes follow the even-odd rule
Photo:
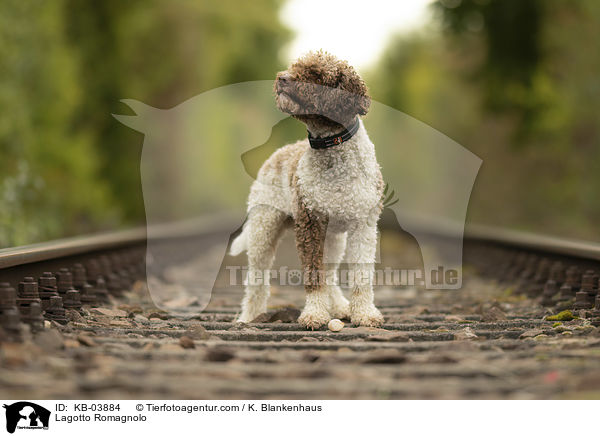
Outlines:
[[[121,99],[171,108],[319,48],[483,159],[467,222],[600,241],[599,37],[594,0],[4,0],[0,248],[145,222]],[[282,123],[274,144],[304,134]]]

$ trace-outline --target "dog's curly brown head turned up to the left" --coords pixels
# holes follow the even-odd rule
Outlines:
[[[278,73],[275,94],[282,112],[324,126],[347,125],[371,104],[354,68],[323,51],[308,53]]]

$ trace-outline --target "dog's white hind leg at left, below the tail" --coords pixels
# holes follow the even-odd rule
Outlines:
[[[287,219],[286,213],[272,206],[258,205],[250,211],[243,230],[248,251],[248,283],[238,322],[250,322],[267,311],[269,269]]]

